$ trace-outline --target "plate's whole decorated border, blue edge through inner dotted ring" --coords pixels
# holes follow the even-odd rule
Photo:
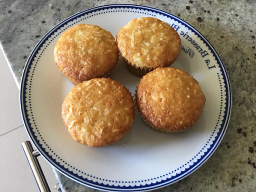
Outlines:
[[[58,37],[63,31],[68,29],[70,26],[73,26],[87,18],[96,16],[99,14],[108,14],[109,12],[135,12],[135,13],[144,14],[146,16],[152,16],[152,17],[156,17],[157,14],[160,14],[160,15],[169,17],[172,20],[177,21],[179,24],[184,25],[196,36],[198,36],[201,39],[201,41],[207,46],[207,48],[211,51],[211,54],[213,54],[213,56],[217,59],[216,60],[217,63],[219,64],[220,72],[218,72],[217,75],[219,79],[219,86],[220,86],[220,93],[221,93],[220,95],[221,104],[220,104],[219,118],[217,120],[214,131],[212,132],[207,143],[203,146],[203,148],[197,154],[195,154],[194,157],[192,157],[183,166],[176,168],[175,170],[170,170],[168,173],[164,175],[159,175],[154,178],[147,178],[145,180],[122,181],[122,180],[107,180],[107,179],[98,178],[96,176],[85,173],[84,171],[74,168],[72,165],[67,163],[64,159],[58,156],[56,152],[54,152],[50,148],[50,146],[44,141],[44,138],[40,134],[37,128],[37,124],[34,120],[32,106],[31,106],[31,85],[32,85],[33,75],[37,67],[37,62],[40,59],[42,53],[49,46],[49,44],[52,42],[53,39]],[[224,74],[224,76],[222,74]],[[98,189],[108,189],[110,191],[116,191],[117,189],[127,189],[127,191],[133,191],[133,190],[140,191],[139,190],[140,188],[144,188],[144,190],[145,188],[147,190],[154,189],[162,185],[166,185],[166,183],[169,184],[169,183],[175,182],[176,180],[180,180],[181,178],[179,177],[182,175],[183,175],[182,178],[184,178],[186,175],[192,172],[195,168],[198,168],[203,163],[201,162],[202,159],[210,156],[211,153],[214,151],[214,149],[218,146],[219,141],[221,140],[227,128],[228,119],[229,119],[230,110],[231,110],[231,106],[230,106],[231,93],[230,93],[229,80],[226,75],[224,65],[222,64],[222,61],[219,58],[219,55],[214,50],[214,48],[209,44],[209,42],[207,42],[207,40],[192,26],[190,26],[189,24],[186,24],[184,21],[171,15],[170,13],[162,12],[160,10],[156,10],[156,9],[148,8],[144,6],[137,6],[137,5],[100,6],[98,8],[92,8],[89,10],[85,10],[84,12],[77,13],[69,17],[68,19],[64,20],[60,24],[58,24],[41,39],[41,41],[37,44],[37,47],[33,50],[33,54],[31,54],[31,56],[28,58],[28,61],[24,69],[23,78],[22,78],[21,90],[22,90],[21,102],[23,104],[22,107],[24,111],[22,115],[24,118],[26,129],[28,130],[28,132],[32,134],[30,136],[32,141],[36,144],[36,146],[40,146],[39,149],[42,150],[40,151],[42,155],[46,156],[46,158],[49,159],[51,163],[54,163],[57,166],[57,168],[68,177],[71,177],[82,184],[93,186]],[[226,96],[226,99],[224,99],[224,96]],[[29,107],[28,109],[24,107],[24,103],[26,107]],[[32,120],[32,122],[30,123],[29,120]],[[34,129],[31,128],[32,126],[34,127]],[[210,142],[212,142],[212,144],[210,144]],[[207,151],[204,151],[204,150],[207,150]],[[168,178],[167,176],[171,176],[171,177]],[[124,184],[121,185],[120,183],[128,183],[128,185],[124,185]],[[133,185],[131,185],[131,183]]]

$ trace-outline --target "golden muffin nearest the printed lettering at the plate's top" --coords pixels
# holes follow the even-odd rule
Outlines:
[[[126,67],[140,77],[171,65],[181,52],[179,34],[169,24],[152,17],[133,19],[118,31],[116,40]]]

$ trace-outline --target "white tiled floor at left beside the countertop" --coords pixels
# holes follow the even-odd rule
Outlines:
[[[0,192],[37,192],[38,187],[24,155],[21,143],[29,140],[23,126],[19,89],[0,46]],[[57,180],[43,157],[38,160],[51,192]]]

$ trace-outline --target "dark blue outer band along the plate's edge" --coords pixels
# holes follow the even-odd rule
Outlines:
[[[31,127],[31,123],[29,122],[29,118],[28,118],[28,110],[26,108],[26,99],[30,100],[30,96],[29,98],[27,98],[26,96],[26,91],[30,88],[27,88],[27,82],[28,82],[28,73],[30,72],[31,69],[31,65],[32,65],[32,61],[35,59],[38,50],[40,50],[40,48],[43,46],[43,44],[46,42],[46,40],[54,35],[55,32],[57,32],[62,26],[64,26],[65,24],[67,24],[68,22],[73,21],[74,19],[86,15],[88,13],[92,13],[92,12],[96,12],[96,11],[100,11],[100,10],[105,10],[105,9],[116,9],[116,8],[128,8],[128,9],[139,9],[139,10],[143,10],[143,11],[149,11],[149,12],[155,12],[156,14],[160,14],[163,16],[166,16],[168,18],[173,19],[174,21],[177,21],[183,25],[185,25],[185,27],[187,27],[188,29],[190,29],[192,32],[194,32],[202,41],[204,44],[207,45],[207,47],[209,48],[209,50],[212,52],[213,56],[215,57],[215,59],[217,60],[217,63],[219,64],[219,69],[222,72],[222,76],[223,76],[223,81],[224,81],[224,87],[226,89],[225,91],[225,112],[223,115],[223,120],[222,123],[220,124],[220,128],[219,128],[219,132],[217,133],[217,136],[215,137],[215,140],[213,141],[212,144],[210,144],[210,148],[207,149],[207,152],[204,153],[203,156],[201,156],[199,159],[197,159],[197,161],[192,165],[189,166],[189,168],[185,168],[184,171],[181,171],[181,173],[177,173],[176,176],[171,176],[171,178],[167,178],[166,180],[160,180],[160,181],[156,181],[155,183],[151,182],[150,184],[140,184],[140,185],[136,185],[138,183],[133,182],[133,184],[135,184],[134,186],[125,186],[123,185],[123,183],[130,183],[130,181],[119,181],[119,183],[121,183],[122,185],[109,185],[109,184],[104,184],[99,183],[99,182],[95,182],[93,180],[88,180],[87,178],[83,178],[82,176],[79,176],[76,173],[73,173],[72,171],[69,171],[68,168],[64,168],[64,166],[62,166],[59,162],[57,162],[55,159],[52,158],[52,156],[49,155],[49,153],[46,151],[46,149],[44,147],[42,147],[42,144],[39,143],[39,140],[37,139],[37,136],[35,135],[35,132],[32,130]],[[142,13],[142,12],[140,12]],[[148,14],[149,16],[153,15],[153,14]],[[219,76],[219,74],[218,74]],[[220,79],[220,78],[219,78]],[[32,81],[32,80],[30,80]],[[220,80],[219,80],[220,81]],[[31,82],[30,82],[31,83]],[[36,47],[32,50],[26,64],[24,67],[24,71],[23,71],[23,75],[22,75],[22,81],[21,81],[21,90],[20,90],[20,107],[21,107],[21,113],[22,113],[22,117],[23,117],[23,121],[24,121],[24,125],[26,128],[26,131],[31,139],[31,141],[33,142],[33,144],[36,146],[37,150],[39,151],[39,153],[54,167],[56,168],[58,171],[60,171],[62,174],[64,174],[65,176],[67,176],[68,178],[79,182],[83,185],[95,188],[95,189],[99,189],[99,190],[104,190],[104,191],[147,191],[147,190],[153,190],[153,189],[157,189],[157,188],[161,188],[170,184],[173,184],[174,182],[177,182],[178,180],[181,180],[183,178],[185,178],[186,176],[188,176],[189,174],[191,174],[192,172],[194,172],[197,168],[199,168],[203,163],[205,163],[207,161],[207,159],[213,154],[213,152],[217,149],[217,147],[219,146],[220,141],[222,140],[229,120],[230,120],[230,115],[231,115],[231,107],[232,107],[232,95],[231,95],[231,85],[230,85],[230,81],[228,78],[228,74],[226,72],[226,69],[224,67],[224,64],[222,62],[222,60],[219,57],[219,54],[217,53],[217,51],[213,48],[213,46],[209,43],[209,41],[206,39],[206,37],[204,37],[199,31],[197,31],[193,26],[191,26],[190,24],[187,24],[185,21],[183,21],[182,19],[168,13],[168,12],[164,12],[155,8],[151,8],[151,7],[146,7],[146,6],[141,6],[141,5],[133,5],[133,4],[111,4],[111,5],[103,5],[103,6],[98,6],[98,7],[94,7],[94,8],[90,8],[87,9],[85,11],[82,12],[78,12],[70,17],[68,17],[67,19],[63,20],[61,23],[57,24],[55,27],[53,27],[45,36],[42,37],[42,39],[37,43]],[[167,175],[167,174],[166,174]],[[159,176],[161,178],[161,176]],[[156,179],[156,178],[155,178]],[[151,179],[152,180],[152,179]],[[144,181],[144,180],[142,180]],[[146,181],[146,180],[145,180]],[[140,182],[140,181],[138,181]]]

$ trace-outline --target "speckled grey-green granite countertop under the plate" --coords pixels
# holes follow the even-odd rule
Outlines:
[[[246,191],[256,189],[256,1],[255,0],[8,0],[0,1],[0,43],[17,84],[40,38],[76,12],[112,3],[146,5],[170,12],[198,29],[219,53],[232,86],[227,132],[207,162],[167,191]],[[55,171],[63,192],[97,191]]]

